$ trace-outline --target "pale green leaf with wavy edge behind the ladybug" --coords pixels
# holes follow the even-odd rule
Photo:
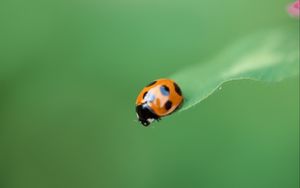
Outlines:
[[[224,82],[252,79],[277,82],[299,74],[298,28],[256,33],[229,46],[208,63],[170,76],[183,90],[180,111],[201,102]]]

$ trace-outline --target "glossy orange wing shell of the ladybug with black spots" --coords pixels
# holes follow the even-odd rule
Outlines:
[[[147,85],[138,95],[136,106],[147,103],[151,111],[159,116],[167,116],[183,102],[179,86],[170,79],[159,79]]]

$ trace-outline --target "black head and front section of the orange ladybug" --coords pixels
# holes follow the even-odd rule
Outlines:
[[[141,104],[135,108],[138,120],[147,127],[153,120],[159,120],[159,116],[154,114],[147,104]]]

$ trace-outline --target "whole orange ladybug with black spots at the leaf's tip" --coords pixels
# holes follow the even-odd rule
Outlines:
[[[136,99],[138,121],[148,126],[178,110],[182,103],[181,89],[173,80],[155,80],[143,88]]]

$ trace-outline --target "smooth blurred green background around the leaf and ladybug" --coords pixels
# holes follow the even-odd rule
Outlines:
[[[0,187],[297,188],[299,78],[227,83],[149,128],[134,111],[151,80],[296,24],[287,3],[2,0]]]

